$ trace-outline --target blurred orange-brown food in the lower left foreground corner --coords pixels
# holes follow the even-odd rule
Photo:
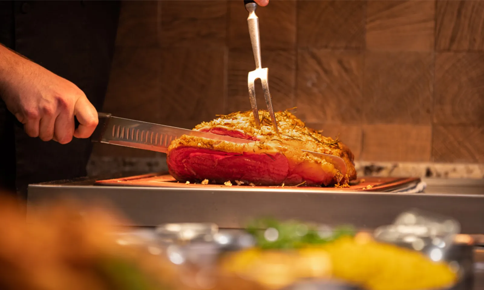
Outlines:
[[[26,223],[10,200],[0,201],[0,289],[171,289],[172,266],[109,233],[115,214],[59,203]],[[170,286],[168,288],[168,286]]]

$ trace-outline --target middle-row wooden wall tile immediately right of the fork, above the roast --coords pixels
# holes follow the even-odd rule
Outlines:
[[[363,53],[300,49],[297,102],[306,122],[359,123]]]

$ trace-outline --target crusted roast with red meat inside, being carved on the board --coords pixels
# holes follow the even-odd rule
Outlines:
[[[203,122],[194,130],[256,142],[235,144],[183,135],[167,154],[169,173],[179,182],[260,186],[345,186],[356,179],[353,154],[338,139],[307,128],[288,110],[275,113],[279,134],[269,112],[259,110],[260,129],[252,111],[237,112]],[[301,149],[339,156],[345,160],[343,176],[335,166]]]

